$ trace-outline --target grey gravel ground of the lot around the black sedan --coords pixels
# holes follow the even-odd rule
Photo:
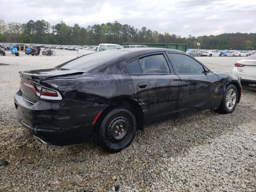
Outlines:
[[[0,160],[9,164],[0,161],[0,191],[256,191],[256,86],[244,87],[232,114],[204,112],[146,128],[116,154],[94,141],[46,146],[16,120],[18,71],[51,68],[76,52],[6,53],[0,57]],[[198,58],[224,72],[239,59]]]

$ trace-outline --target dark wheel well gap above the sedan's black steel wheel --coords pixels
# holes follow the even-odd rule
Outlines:
[[[112,99],[110,101],[110,107],[116,107],[116,106],[123,106],[123,107],[127,108],[128,110],[130,110],[136,118],[137,129],[143,130],[144,113],[143,113],[143,110],[142,110],[140,104],[138,104],[138,102],[136,102],[135,100],[132,100],[132,99]]]

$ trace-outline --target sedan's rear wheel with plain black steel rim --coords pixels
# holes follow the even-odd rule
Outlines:
[[[110,109],[96,125],[100,146],[108,152],[119,152],[128,147],[137,130],[136,118],[128,109]]]

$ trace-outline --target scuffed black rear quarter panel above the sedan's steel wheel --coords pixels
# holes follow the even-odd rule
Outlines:
[[[110,104],[116,98],[135,99],[128,74],[83,74],[72,78],[54,78],[41,82],[62,92],[64,98]]]

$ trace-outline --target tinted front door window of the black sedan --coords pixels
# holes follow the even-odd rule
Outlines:
[[[204,67],[190,56],[176,53],[168,53],[167,55],[176,73],[200,74],[204,72]]]

